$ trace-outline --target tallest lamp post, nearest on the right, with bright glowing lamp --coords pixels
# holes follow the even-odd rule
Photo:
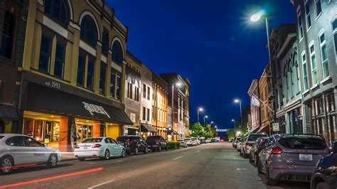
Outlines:
[[[250,21],[252,22],[257,22],[260,21],[262,16],[264,17],[264,21],[266,23],[266,31],[267,31],[267,45],[268,45],[268,55],[269,55],[269,63],[270,63],[270,77],[272,78],[272,104],[273,104],[273,119],[274,122],[276,122],[276,102],[275,102],[275,91],[274,91],[274,73],[273,73],[273,66],[272,66],[272,55],[270,52],[270,41],[269,41],[269,23],[268,23],[268,18],[266,15],[266,12],[264,10],[261,10],[252,16],[250,16]],[[269,135],[272,135],[272,127],[269,128]]]

